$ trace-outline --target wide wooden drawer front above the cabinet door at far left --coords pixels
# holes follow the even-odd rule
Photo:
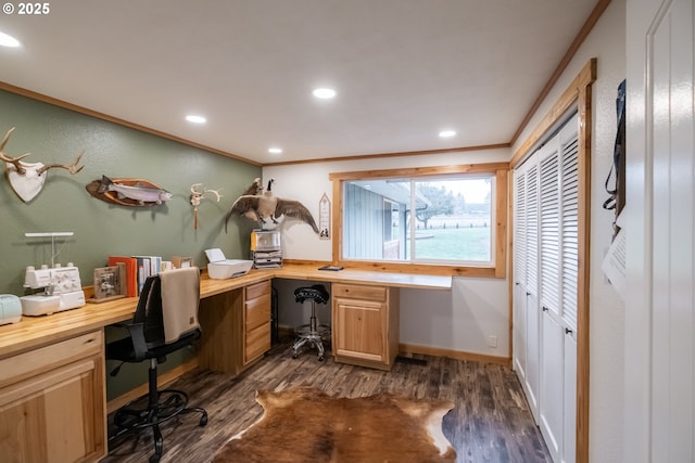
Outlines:
[[[0,360],[0,387],[103,350],[101,331],[83,334]]]

